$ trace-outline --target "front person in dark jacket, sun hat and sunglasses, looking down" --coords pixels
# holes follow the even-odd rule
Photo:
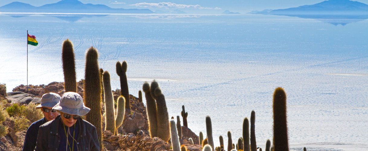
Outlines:
[[[53,109],[60,115],[40,126],[35,151],[100,151],[96,127],[81,118],[91,109],[78,93],[64,93]]]

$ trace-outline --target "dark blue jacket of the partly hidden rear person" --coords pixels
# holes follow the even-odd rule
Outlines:
[[[36,147],[38,129],[42,124],[47,122],[46,118],[40,119],[31,126],[28,127],[27,133],[25,134],[24,144],[23,144],[23,151],[33,151]]]

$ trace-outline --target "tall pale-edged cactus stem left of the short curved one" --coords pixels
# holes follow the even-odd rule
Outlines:
[[[110,74],[105,71],[102,75],[103,91],[105,97],[105,130],[110,130],[115,134],[115,109],[114,109],[114,97],[111,91]]]

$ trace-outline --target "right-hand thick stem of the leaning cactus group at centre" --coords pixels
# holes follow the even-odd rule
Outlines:
[[[169,141],[169,113],[167,112],[165,97],[162,94],[160,87],[155,89],[155,97],[157,106],[157,136],[163,141]]]

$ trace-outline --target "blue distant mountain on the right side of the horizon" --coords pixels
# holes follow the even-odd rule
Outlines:
[[[269,15],[368,15],[368,5],[350,0],[327,0],[313,5],[304,5],[279,10],[252,11],[248,14]]]

